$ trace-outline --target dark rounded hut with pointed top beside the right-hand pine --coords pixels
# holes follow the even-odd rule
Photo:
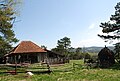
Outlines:
[[[114,52],[106,46],[98,53],[100,66],[107,68],[115,63]]]

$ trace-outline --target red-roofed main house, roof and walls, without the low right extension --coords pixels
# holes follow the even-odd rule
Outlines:
[[[9,63],[14,63],[14,59],[17,60],[17,63],[44,62],[47,58],[47,51],[31,41],[22,41],[8,54],[8,57]]]

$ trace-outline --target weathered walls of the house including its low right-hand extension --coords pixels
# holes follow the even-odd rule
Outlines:
[[[65,63],[65,58],[61,55],[54,53],[29,53],[29,54],[16,54],[8,58],[8,63],[15,63],[15,58],[17,63],[49,63],[49,64],[60,64]]]

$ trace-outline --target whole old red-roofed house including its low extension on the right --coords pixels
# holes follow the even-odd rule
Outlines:
[[[6,57],[8,63],[64,63],[63,55],[42,49],[31,41],[22,41]]]

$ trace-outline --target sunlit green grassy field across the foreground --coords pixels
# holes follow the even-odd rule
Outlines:
[[[73,68],[73,63],[83,65],[81,60],[72,60],[64,65],[52,65],[51,70],[53,72],[50,74],[34,73],[33,76],[28,76],[24,72],[17,75],[1,73],[0,81],[120,81],[120,67],[118,64],[109,69],[86,69],[81,65],[76,65]],[[21,68],[18,69],[24,71]],[[6,68],[0,71],[6,71]]]

